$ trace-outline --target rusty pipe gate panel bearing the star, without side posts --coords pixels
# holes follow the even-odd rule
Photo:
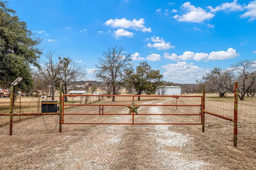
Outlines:
[[[63,94],[62,96],[62,124],[98,124],[98,125],[104,125],[104,124],[116,124],[116,125],[202,125],[202,119],[200,122],[198,123],[136,123],[134,122],[134,116],[136,115],[186,115],[186,116],[201,116],[202,115],[202,96],[165,96],[165,95],[76,95],[76,96],[82,96],[82,97],[91,97],[91,96],[96,96],[96,97],[129,97],[132,100],[130,100],[130,102],[132,102],[132,104],[134,102],[134,98],[135,97],[146,97],[146,98],[182,98],[182,97],[186,97],[186,98],[201,98],[201,103],[200,104],[195,104],[195,105],[191,105],[191,104],[187,104],[187,105],[178,105],[178,104],[139,104],[138,107],[140,106],[176,106],[176,107],[200,107],[201,111],[200,113],[137,113],[136,111],[131,111],[132,114],[130,113],[104,113],[104,106],[112,106],[112,107],[117,107],[117,106],[123,106],[123,107],[129,107],[131,104],[127,103],[127,104],[115,104],[117,102],[113,102],[113,104],[103,104],[103,103],[93,103],[93,104],[64,104],[64,98],[65,96],[74,96],[74,95],[68,95],[68,94]],[[99,107],[99,112],[98,113],[65,113],[65,106],[98,106]],[[128,112],[129,109],[127,109]],[[64,115],[131,115],[132,116],[132,122],[131,123],[104,123],[104,122],[66,122],[64,119]]]

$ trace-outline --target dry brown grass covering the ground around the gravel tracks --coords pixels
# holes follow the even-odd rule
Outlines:
[[[222,102],[232,102],[232,98],[206,98],[208,101],[222,100]],[[246,102],[247,101],[247,102]],[[256,98],[250,98],[245,101],[239,101],[239,104],[254,105]],[[100,102],[112,103],[110,100]],[[126,103],[126,100],[120,100],[119,103]],[[140,103],[135,101],[136,104]],[[141,102],[152,103],[170,103],[176,102],[175,99],[162,100],[144,100]],[[194,104],[194,98],[178,99],[179,104]],[[198,102],[198,101],[196,101]],[[129,102],[131,103],[131,102]],[[225,105],[226,106],[226,105]],[[229,105],[227,105],[229,106]],[[91,110],[90,110],[91,109]],[[69,112],[92,111],[93,108],[84,109],[84,107],[73,107],[68,109]],[[140,112],[147,112],[148,107],[139,110]],[[98,110],[98,108],[96,109]],[[127,111],[127,108],[120,107],[104,107],[104,111],[108,112],[122,112]],[[168,108],[163,107],[164,113],[198,113],[198,108]],[[98,111],[96,111],[98,113]],[[225,114],[225,113],[224,113]],[[250,114],[255,115],[256,111],[250,111]],[[121,116],[114,119],[114,121],[130,122],[130,116],[124,119]],[[45,117],[46,118],[46,117]],[[49,118],[49,128],[54,129],[56,115]],[[1,119],[1,116],[0,116]],[[104,121],[112,122],[113,118],[110,116],[67,116],[66,121]],[[136,121],[148,121],[154,117],[140,116],[136,117]],[[172,122],[198,122],[199,117],[192,117],[188,120],[186,116],[168,116],[164,117],[165,121]],[[255,116],[251,117],[252,122],[256,123]],[[50,122],[52,120],[52,122]],[[246,121],[247,119],[244,119]],[[8,136],[8,125],[0,127],[0,169],[83,169],[79,161],[89,161],[86,154],[78,152],[79,149],[87,147],[84,145],[98,146],[104,144],[104,140],[108,139],[111,133],[108,128],[114,128],[116,134],[120,134],[121,143],[112,146],[102,146],[100,149],[94,149],[90,154],[99,154],[103,150],[112,152],[113,160],[109,168],[106,169],[124,169],[124,170],[165,170],[169,169],[162,163],[162,155],[157,151],[156,141],[150,137],[150,134],[157,133],[155,125],[62,125],[62,133],[58,133],[57,129],[54,131],[47,131],[42,122],[42,117],[33,117],[30,120],[24,120],[14,123],[13,135]],[[157,125],[156,125],[157,127]],[[241,125],[238,129],[238,147],[233,147],[233,129],[232,123],[227,123],[210,115],[206,115],[206,129],[205,133],[201,132],[201,125],[170,125],[169,131],[189,135],[191,141],[182,149],[177,147],[170,147],[168,150],[177,151],[186,154],[186,159],[189,161],[202,160],[206,163],[201,169],[223,169],[223,170],[253,170],[256,167],[256,140],[255,139],[255,125],[250,126]],[[250,135],[248,135],[250,134]],[[100,138],[99,138],[100,135]],[[87,140],[85,142],[84,140]],[[105,145],[105,144],[104,144]],[[72,147],[77,146],[71,155]],[[87,153],[87,152],[82,152]],[[88,153],[89,154],[89,153]],[[81,158],[85,156],[84,158]],[[110,156],[111,157],[111,156]],[[110,161],[110,157],[106,156]],[[96,159],[97,156],[90,157]],[[100,157],[102,158],[102,157]],[[79,161],[76,162],[76,159]],[[76,166],[71,166],[75,162]],[[95,162],[97,164],[97,161]],[[95,168],[97,169],[97,168]],[[102,168],[104,169],[104,168]],[[182,167],[180,167],[182,169]],[[190,169],[190,168],[188,168]]]

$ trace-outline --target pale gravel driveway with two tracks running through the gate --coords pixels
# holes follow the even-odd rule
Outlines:
[[[146,103],[145,103],[146,104]],[[148,103],[147,103],[148,104]],[[161,113],[161,109],[156,106],[148,108],[149,113]],[[115,121],[120,117],[111,117],[110,121]],[[150,122],[164,122],[162,116],[147,117]],[[122,120],[125,121],[125,120]],[[101,128],[94,128],[84,136],[84,139],[77,143],[72,143],[66,152],[62,152],[51,167],[52,169],[70,169],[70,170],[112,170],[112,169],[152,169],[149,164],[155,164],[154,169],[161,170],[199,170],[203,169],[205,163],[201,160],[193,160],[192,156],[179,152],[188,144],[192,137],[188,134],[181,134],[170,131],[172,125],[97,125]],[[146,129],[146,133],[141,134],[141,146],[148,145],[151,141],[149,150],[143,150],[140,145],[137,146],[139,152],[133,151],[134,141],[129,144],[127,152],[136,152],[130,155],[133,157],[140,156],[138,160],[129,158],[124,155],[124,144],[126,143],[125,135],[129,133],[127,128],[138,128],[140,131]],[[151,129],[151,130],[150,130]],[[68,136],[67,136],[68,137]],[[134,137],[134,136],[133,136]],[[144,140],[145,139],[145,140]],[[134,145],[133,145],[134,143]],[[138,148],[139,147],[139,148]],[[136,150],[136,148],[135,148]],[[128,158],[127,158],[128,157]],[[128,159],[128,160],[124,160]],[[141,163],[135,167],[129,162],[149,162],[148,166]],[[152,160],[152,161],[151,161]],[[156,162],[154,162],[157,160]],[[128,161],[129,164],[126,164]],[[121,163],[122,162],[122,163]],[[125,163],[126,162],[126,163]],[[139,163],[135,163],[139,164]],[[49,166],[47,166],[49,167]]]

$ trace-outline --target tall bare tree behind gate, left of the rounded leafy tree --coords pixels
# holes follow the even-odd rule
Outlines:
[[[96,64],[95,76],[103,82],[108,82],[112,86],[112,94],[116,94],[116,87],[121,84],[124,78],[124,70],[132,65],[131,56],[124,53],[123,47],[108,47],[103,51],[102,57],[99,58],[99,64]],[[112,102],[115,98],[112,98]]]

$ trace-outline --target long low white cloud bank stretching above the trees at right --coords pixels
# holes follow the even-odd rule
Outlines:
[[[164,53],[164,58],[174,61],[209,61],[209,60],[225,60],[238,57],[240,54],[236,52],[236,49],[229,48],[227,51],[212,51],[208,53],[194,53],[192,51],[185,51],[182,55],[176,55],[175,53]]]

